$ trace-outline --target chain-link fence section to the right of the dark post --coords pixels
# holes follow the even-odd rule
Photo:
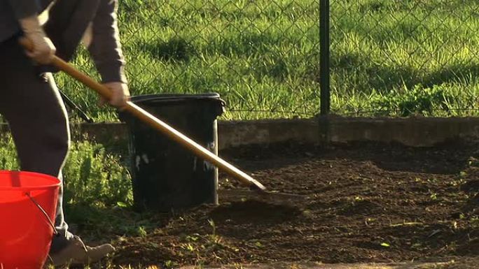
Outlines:
[[[331,110],[478,115],[479,2],[331,0]]]

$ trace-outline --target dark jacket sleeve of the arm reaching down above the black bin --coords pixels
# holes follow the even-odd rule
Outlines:
[[[118,0],[100,0],[97,14],[92,21],[92,42],[88,51],[95,61],[102,82],[126,83],[125,57],[120,44],[117,10]]]

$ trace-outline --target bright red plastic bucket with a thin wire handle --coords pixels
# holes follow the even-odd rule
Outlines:
[[[0,170],[0,268],[42,268],[59,187],[60,180],[49,175]]]

